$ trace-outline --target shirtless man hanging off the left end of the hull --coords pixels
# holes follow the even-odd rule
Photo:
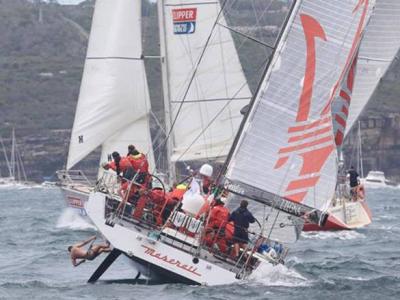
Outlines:
[[[94,260],[101,253],[106,253],[111,251],[109,243],[93,245],[95,239],[96,236],[92,236],[90,239],[86,241],[68,247],[68,252],[70,253],[71,256],[71,262],[74,267],[79,266],[86,260]],[[89,246],[88,250],[82,249],[83,246],[89,244],[90,242],[92,242],[92,244]],[[81,261],[77,262],[77,259],[81,259]]]

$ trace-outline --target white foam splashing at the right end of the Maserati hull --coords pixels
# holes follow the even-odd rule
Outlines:
[[[269,263],[261,264],[255,272],[253,272],[249,281],[267,286],[310,286],[311,281],[297,273],[293,269],[289,269],[284,265],[272,266]]]

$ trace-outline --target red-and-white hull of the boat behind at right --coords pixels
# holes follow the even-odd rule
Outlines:
[[[324,226],[305,223],[303,231],[351,230],[371,223],[371,211],[364,200],[346,202],[344,205],[330,207]]]

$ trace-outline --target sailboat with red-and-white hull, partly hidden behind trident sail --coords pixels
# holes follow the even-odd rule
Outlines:
[[[366,25],[358,53],[341,84],[340,93],[332,106],[335,142],[338,157],[344,138],[349,134],[365,105],[371,99],[380,79],[385,75],[400,48],[400,2],[376,1]],[[371,223],[371,212],[365,199],[364,187],[349,193],[346,171],[339,161],[338,185],[330,202],[325,226],[305,224],[304,230],[355,229]]]

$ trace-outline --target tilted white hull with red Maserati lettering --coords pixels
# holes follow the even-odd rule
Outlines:
[[[86,211],[91,221],[114,248],[144,269],[149,268],[150,273],[154,272],[173,282],[210,286],[231,284],[239,280],[233,271],[152,238],[149,235],[151,231],[136,226],[127,228],[117,223],[113,227],[107,225],[105,201],[106,195],[103,193],[90,194]]]

